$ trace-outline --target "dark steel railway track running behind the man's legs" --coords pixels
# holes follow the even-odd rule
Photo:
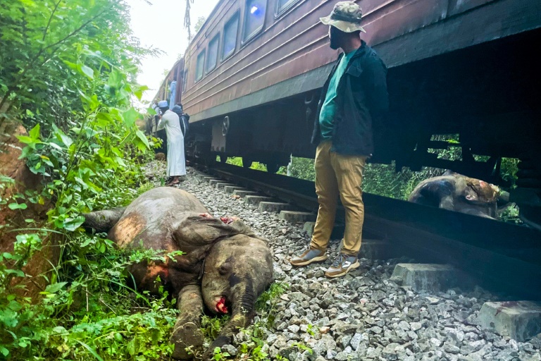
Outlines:
[[[317,212],[311,181],[230,164],[196,166],[211,176]],[[363,238],[386,240],[395,255],[451,264],[488,290],[541,300],[541,232],[369,193],[363,200]],[[344,210],[339,207],[336,223],[343,219]]]

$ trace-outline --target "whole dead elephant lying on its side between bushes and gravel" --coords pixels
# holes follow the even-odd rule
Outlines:
[[[107,232],[119,247],[144,247],[184,255],[167,262],[141,263],[130,271],[139,289],[156,292],[161,284],[177,295],[180,315],[171,341],[173,357],[197,354],[204,337],[200,318],[204,305],[231,318],[204,358],[230,343],[235,332],[254,317],[254,304],[273,281],[273,261],[266,243],[239,219],[213,218],[196,197],[177,188],[154,188],[128,207],[85,214],[86,228]]]

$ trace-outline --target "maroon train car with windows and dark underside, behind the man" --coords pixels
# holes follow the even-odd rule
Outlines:
[[[191,116],[194,157],[240,156],[270,171],[290,154],[313,157],[314,113],[338,55],[319,18],[335,2],[218,2],[190,42],[182,69],[170,74]],[[389,68],[392,114],[384,136],[376,135],[373,161],[487,178],[502,157],[537,159],[541,71],[533,49],[541,41],[541,1],[356,2],[363,8],[363,39]],[[433,140],[441,134],[459,134],[462,159],[430,152],[448,146]],[[477,154],[490,159],[476,161]],[[541,174],[539,163],[533,167]],[[528,184],[541,188],[538,179]]]

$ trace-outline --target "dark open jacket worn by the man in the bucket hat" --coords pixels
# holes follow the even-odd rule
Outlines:
[[[321,91],[313,128],[313,145],[321,142],[319,114],[330,79],[342,56],[344,54],[338,57]],[[363,41],[338,82],[331,151],[371,156],[374,152],[373,127],[384,123],[388,111],[387,68],[378,54]]]

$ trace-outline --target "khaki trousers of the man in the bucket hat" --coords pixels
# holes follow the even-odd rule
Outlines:
[[[319,210],[310,247],[325,252],[335,224],[338,196],[346,213],[346,230],[342,253],[356,256],[361,249],[364,221],[364,203],[361,182],[366,158],[331,152],[330,140],[321,142],[316,149],[316,194]]]

